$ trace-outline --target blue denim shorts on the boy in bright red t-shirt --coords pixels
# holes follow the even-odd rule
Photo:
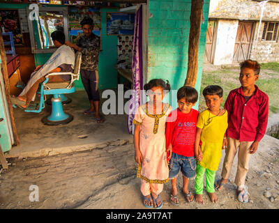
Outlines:
[[[172,157],[169,160],[169,178],[175,178],[181,169],[181,173],[186,178],[193,179],[196,176],[196,167],[195,156],[186,157],[172,153]]]

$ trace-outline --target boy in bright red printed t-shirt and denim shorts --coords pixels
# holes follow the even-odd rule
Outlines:
[[[183,175],[182,192],[188,202],[193,201],[194,196],[188,190],[189,180],[196,176],[196,160],[194,154],[196,123],[199,112],[192,109],[197,102],[198,93],[190,86],[183,86],[177,92],[178,109],[175,109],[167,118],[166,148],[172,148],[172,157],[169,160],[169,179],[172,181],[170,201],[173,205],[179,205],[177,197],[176,178],[181,169]]]

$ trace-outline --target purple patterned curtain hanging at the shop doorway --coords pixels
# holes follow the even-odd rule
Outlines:
[[[134,43],[133,43],[133,93],[130,96],[130,107],[128,114],[128,131],[133,132],[133,119],[135,111],[140,106],[140,91],[142,89],[142,6],[138,8],[135,13],[135,29],[134,29]]]

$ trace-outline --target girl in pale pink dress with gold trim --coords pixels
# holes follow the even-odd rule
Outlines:
[[[137,177],[142,180],[140,190],[146,208],[163,207],[160,192],[169,177],[165,121],[172,112],[172,107],[162,102],[169,89],[169,84],[165,84],[163,79],[151,79],[145,84],[144,90],[149,95],[149,102],[138,107],[133,120],[135,161],[139,164]]]

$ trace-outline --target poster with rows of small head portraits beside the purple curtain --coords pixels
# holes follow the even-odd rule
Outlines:
[[[133,35],[118,36],[117,68],[130,69],[132,67],[133,38]]]

